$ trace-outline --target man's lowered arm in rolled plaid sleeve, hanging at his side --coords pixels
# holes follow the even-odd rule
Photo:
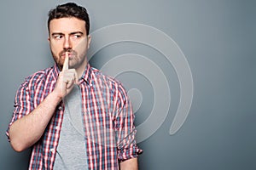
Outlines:
[[[138,169],[137,156],[143,153],[143,150],[137,147],[134,126],[134,114],[131,109],[131,101],[126,95],[125,88],[119,88],[119,106],[117,118],[117,146],[119,167],[121,170]]]

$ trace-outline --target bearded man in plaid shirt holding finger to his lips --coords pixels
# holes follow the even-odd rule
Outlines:
[[[90,67],[90,20],[66,3],[49,11],[55,65],[27,77],[15,97],[7,136],[32,146],[29,169],[137,169],[131,102],[120,82]]]

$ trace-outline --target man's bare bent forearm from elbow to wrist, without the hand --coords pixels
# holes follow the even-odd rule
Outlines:
[[[31,113],[10,126],[9,139],[14,150],[26,150],[41,138],[59,102],[60,99],[53,92]]]

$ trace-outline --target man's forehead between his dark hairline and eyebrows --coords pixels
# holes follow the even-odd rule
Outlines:
[[[68,33],[73,31],[85,32],[85,21],[77,18],[54,19],[49,22],[49,32]]]

